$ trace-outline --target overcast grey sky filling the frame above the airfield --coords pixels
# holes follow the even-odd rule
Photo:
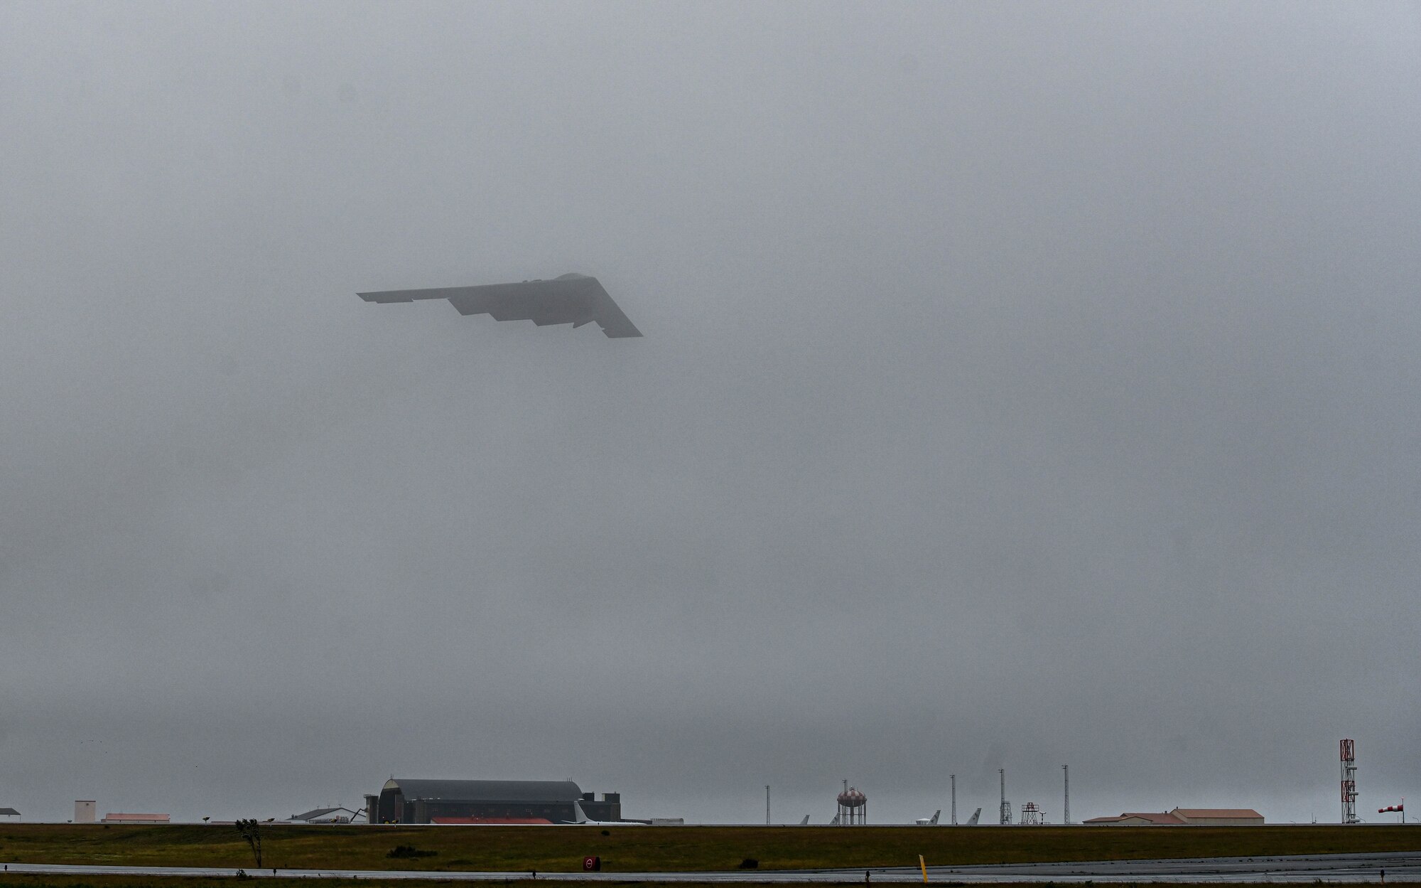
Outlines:
[[[1415,3],[0,3],[0,804],[1421,796],[1418,107]]]

